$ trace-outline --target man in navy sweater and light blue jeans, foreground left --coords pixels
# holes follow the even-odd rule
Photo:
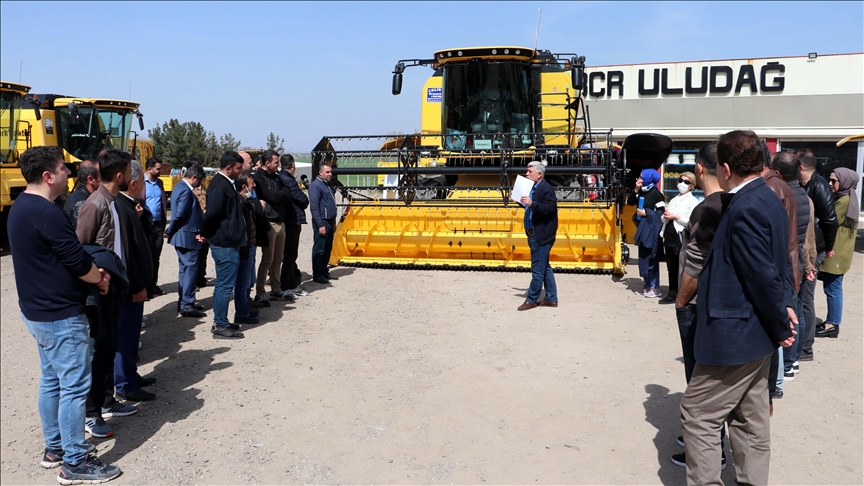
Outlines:
[[[66,192],[69,169],[58,147],[21,154],[27,188],[9,210],[9,247],[21,319],[36,340],[42,374],[39,417],[45,451],[40,465],[60,467],[63,484],[101,483],[120,475],[84,441],[91,384],[90,326],[84,305],[90,285],[108,292],[110,274],[84,251],[66,213],[52,201]],[[51,282],[46,291],[45,282]]]

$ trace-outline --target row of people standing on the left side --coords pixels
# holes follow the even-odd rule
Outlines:
[[[132,415],[132,403],[156,398],[145,390],[156,378],[141,376],[137,362],[144,302],[165,293],[158,285],[164,240],[177,252],[180,316],[207,316],[196,292],[208,284],[208,253],[213,259],[216,339],[241,339],[242,324],[258,323],[256,308],[308,295],[297,266],[307,207],[315,226],[312,281],[337,278],[327,270],[336,225],[327,164],[307,197],[290,154],[265,151],[253,170],[248,153],[225,152],[206,191],[201,162],[189,159],[171,194],[170,220],[157,158],[142,166],[128,153],[104,150],[80,164],[68,198],[60,197],[71,174],[61,149],[28,149],[20,164],[28,185],[10,211],[10,248],[22,319],[42,367],[41,465],[59,467],[61,484],[117,477],[120,469],[92,454],[85,432],[112,437],[105,418]],[[57,291],[46,294],[39,287],[49,280]]]

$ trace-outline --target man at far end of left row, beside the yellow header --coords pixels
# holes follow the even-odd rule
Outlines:
[[[333,168],[330,164],[318,166],[318,177],[309,185],[309,210],[312,213],[312,281],[327,285],[338,280],[330,275],[327,264],[333,251],[333,231],[336,228],[336,198],[330,187]]]

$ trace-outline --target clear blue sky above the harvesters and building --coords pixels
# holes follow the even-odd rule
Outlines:
[[[431,70],[399,59],[534,45],[588,65],[864,51],[864,2],[0,2],[0,77],[35,93],[131,99],[147,128],[198,121],[244,146],[270,131],[308,152],[322,135],[419,128]],[[830,82],[830,80],[826,80]]]

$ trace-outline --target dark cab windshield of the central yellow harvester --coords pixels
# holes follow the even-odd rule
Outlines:
[[[449,64],[444,70],[444,127],[448,149],[532,145],[530,66],[486,59]],[[477,134],[475,136],[471,136]],[[513,134],[495,137],[493,134]]]

